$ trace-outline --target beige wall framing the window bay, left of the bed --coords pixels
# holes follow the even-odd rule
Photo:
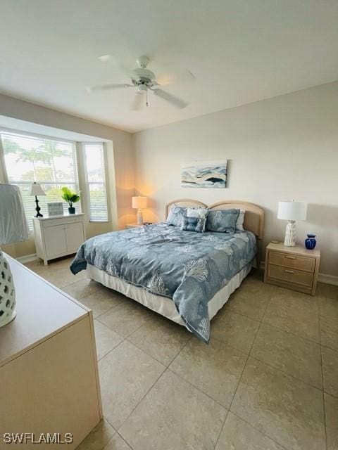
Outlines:
[[[107,145],[111,221],[105,224],[87,222],[87,236],[106,233],[116,227],[122,229],[127,222],[134,221],[131,197],[134,195],[135,163],[130,133],[1,94],[0,115],[113,141],[113,146]],[[0,182],[3,176],[0,160]],[[34,239],[4,246],[4,250],[13,257],[30,255],[35,252]]]

